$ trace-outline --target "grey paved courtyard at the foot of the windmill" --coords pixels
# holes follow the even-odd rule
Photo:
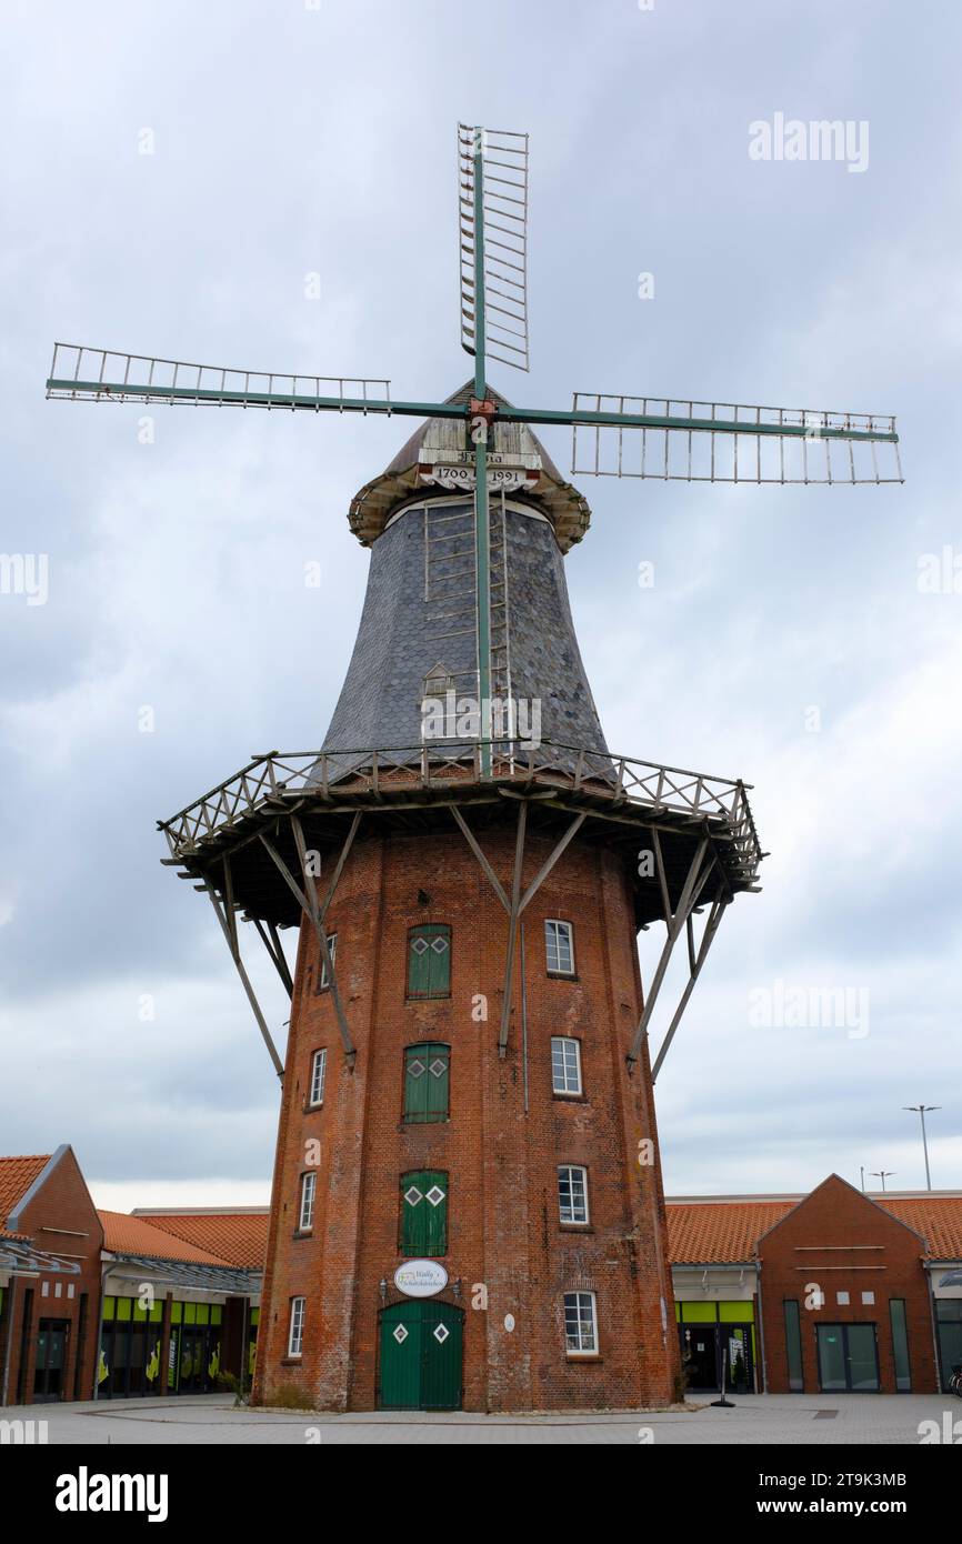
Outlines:
[[[962,1444],[962,1400],[947,1394],[744,1396],[733,1410],[690,1403],[672,1411],[599,1414],[483,1416],[459,1411],[377,1411],[310,1416],[292,1410],[233,1410],[230,1396],[144,1399],[130,1403],[31,1405],[0,1410],[0,1420],[46,1420],[51,1444],[630,1444],[672,1447],[715,1444],[835,1447],[917,1445],[919,1424],[951,1420]],[[649,1434],[650,1433],[650,1434]],[[945,1437],[943,1437],[945,1441]]]

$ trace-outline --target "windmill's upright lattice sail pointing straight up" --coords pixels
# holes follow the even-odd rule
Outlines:
[[[480,162],[480,210],[476,167]],[[457,127],[462,347],[528,369],[528,136]],[[479,219],[480,215],[480,219]],[[480,227],[480,229],[479,229]],[[483,266],[479,318],[477,259]]]

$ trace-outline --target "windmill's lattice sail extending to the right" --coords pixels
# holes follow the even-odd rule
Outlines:
[[[571,472],[737,483],[903,482],[896,420],[574,392]]]

